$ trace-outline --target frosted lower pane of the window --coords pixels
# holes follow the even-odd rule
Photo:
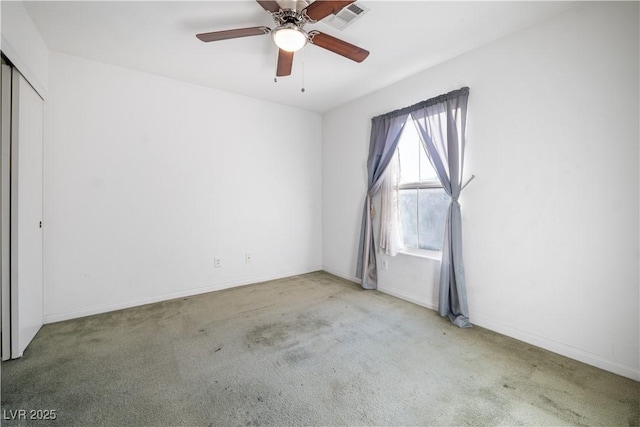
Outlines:
[[[444,240],[447,209],[449,208],[449,196],[441,188],[421,189],[417,191],[417,218],[419,218],[417,247],[420,249],[441,251]],[[404,225],[404,218],[402,221]]]

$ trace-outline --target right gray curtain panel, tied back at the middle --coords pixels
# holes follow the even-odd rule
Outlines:
[[[468,98],[469,88],[465,87],[417,104],[411,112],[442,187],[451,197],[440,266],[438,312],[461,328],[472,326],[467,307],[462,218],[458,203],[462,189]]]

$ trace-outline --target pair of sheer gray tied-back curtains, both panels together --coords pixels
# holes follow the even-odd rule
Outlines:
[[[367,161],[368,190],[356,267],[356,277],[361,279],[362,287],[375,289],[377,266],[371,199],[380,190],[382,177],[398,145],[404,123],[411,115],[440,183],[451,198],[440,266],[438,312],[463,328],[471,326],[462,259],[462,219],[458,203],[462,189],[468,98],[469,88],[464,87],[371,120]]]

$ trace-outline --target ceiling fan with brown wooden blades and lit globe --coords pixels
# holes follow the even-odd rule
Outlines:
[[[306,0],[281,0],[280,3],[290,6],[285,8],[280,7],[280,3],[275,0],[256,1],[273,17],[276,23],[276,27],[273,30],[264,26],[248,27],[202,33],[197,34],[196,37],[203,42],[213,42],[271,33],[273,41],[279,49],[278,65],[276,67],[276,76],[278,77],[291,74],[294,52],[307,43],[327,49],[356,62],[362,62],[369,56],[369,51],[344,40],[320,31],[311,30],[307,32],[304,30],[306,24],[320,21],[332,13],[337,13],[342,8],[354,3],[355,0],[316,0],[311,4]]]

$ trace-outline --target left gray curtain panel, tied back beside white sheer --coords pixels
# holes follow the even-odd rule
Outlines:
[[[382,176],[398,145],[409,111],[398,110],[371,119],[371,140],[367,159],[367,195],[362,212],[356,277],[365,289],[376,289],[378,270],[373,239],[371,199],[380,190]]]

